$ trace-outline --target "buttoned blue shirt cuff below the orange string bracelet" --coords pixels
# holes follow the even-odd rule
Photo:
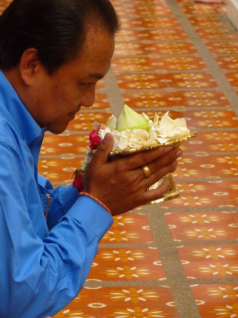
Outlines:
[[[67,215],[87,225],[99,241],[113,224],[113,218],[109,212],[100,203],[88,196],[79,197],[73,209],[70,209]]]

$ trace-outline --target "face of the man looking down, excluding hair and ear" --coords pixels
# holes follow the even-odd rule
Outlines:
[[[109,70],[114,52],[114,36],[106,31],[87,35],[79,57],[49,75],[42,66],[31,87],[28,110],[38,125],[53,134],[61,134],[81,106],[95,101],[95,85]]]

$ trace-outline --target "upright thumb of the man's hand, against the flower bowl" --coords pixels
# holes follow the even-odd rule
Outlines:
[[[110,133],[107,133],[102,142],[100,143],[98,149],[96,150],[92,160],[94,165],[102,165],[107,162],[108,155],[113,147],[113,136]],[[91,160],[91,161],[92,161]]]

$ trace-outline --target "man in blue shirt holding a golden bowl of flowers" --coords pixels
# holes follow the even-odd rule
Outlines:
[[[62,133],[81,106],[92,106],[119,28],[109,0],[13,0],[0,17],[1,318],[61,310],[83,287],[113,223],[107,210],[124,213],[168,190],[168,183],[146,189],[175,171],[181,150],[107,162],[110,134],[84,178],[94,198],[78,197],[71,185],[53,189],[37,176],[44,131]]]

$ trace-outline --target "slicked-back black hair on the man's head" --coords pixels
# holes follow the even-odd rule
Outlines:
[[[120,30],[109,0],[13,0],[0,16],[0,68],[16,67],[23,52],[34,47],[52,74],[76,58],[94,25],[110,34]]]

